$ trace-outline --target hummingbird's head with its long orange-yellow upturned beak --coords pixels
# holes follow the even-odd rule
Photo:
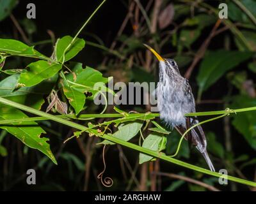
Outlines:
[[[144,45],[145,45],[145,47],[148,48],[148,50],[150,50],[156,56],[156,58],[158,59],[159,64],[160,64],[160,68],[163,68],[166,71],[173,71],[173,72],[177,72],[177,73],[180,74],[178,65],[174,61],[174,59],[163,58],[152,47],[150,47],[150,46],[148,46],[146,44],[144,44]]]

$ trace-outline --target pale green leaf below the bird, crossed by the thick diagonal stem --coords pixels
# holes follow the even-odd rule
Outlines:
[[[143,141],[142,147],[157,151],[159,150],[159,144],[161,143],[162,140],[163,140],[163,136],[161,135],[161,133],[151,133]],[[140,153],[139,163],[142,164],[147,161],[150,161],[151,159],[153,159],[152,156],[148,156],[147,154]]]

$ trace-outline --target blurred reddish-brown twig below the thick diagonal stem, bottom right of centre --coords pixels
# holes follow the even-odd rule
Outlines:
[[[175,173],[163,173],[163,172],[152,172],[156,173],[157,175],[161,175],[164,177],[170,177],[172,179],[179,179],[179,180],[184,180],[186,182],[192,183],[192,184],[197,184],[198,186],[205,187],[205,189],[208,189],[209,191],[220,191],[220,189],[217,189],[214,186],[211,186],[209,184],[205,184],[204,182],[200,182],[199,180],[191,179],[189,177],[185,177],[182,175],[177,175]]]

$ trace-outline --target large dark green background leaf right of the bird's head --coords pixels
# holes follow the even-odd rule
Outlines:
[[[252,52],[218,50],[205,55],[204,60],[200,64],[198,76],[196,77],[199,85],[198,95],[201,96],[202,92],[206,91],[228,70],[246,61],[252,54]]]

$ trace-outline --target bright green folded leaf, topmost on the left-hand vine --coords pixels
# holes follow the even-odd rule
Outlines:
[[[84,48],[85,41],[79,38],[76,38],[74,43],[72,43],[72,45],[69,47],[72,40],[73,38],[71,36],[64,36],[63,38],[57,41],[56,59],[58,62],[63,63],[69,61]]]

